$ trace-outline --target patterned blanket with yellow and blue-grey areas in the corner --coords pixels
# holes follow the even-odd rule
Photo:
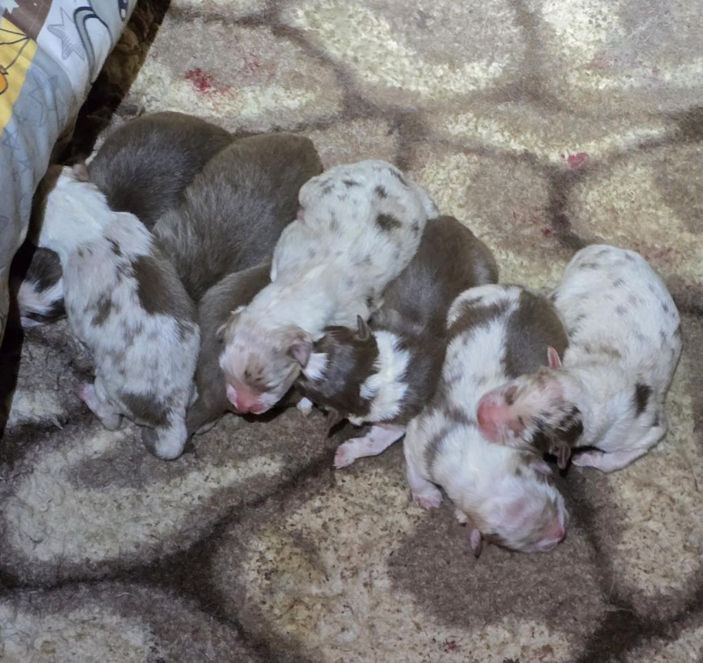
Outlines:
[[[0,0],[0,340],[34,188],[135,2]]]

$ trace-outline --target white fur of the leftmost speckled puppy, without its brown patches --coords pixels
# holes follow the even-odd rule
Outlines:
[[[121,258],[110,240],[119,245]],[[70,327],[93,356],[96,381],[89,385],[92,390],[84,388],[86,404],[92,404],[108,427],[117,427],[119,416],[130,414],[120,398],[123,392],[153,397],[174,418],[184,418],[193,389],[198,328],[193,323],[192,333],[183,335],[172,316],[148,314],[141,307],[136,278],[120,273],[125,262],[152,255],[152,238],[141,222],[132,214],[112,212],[94,186],[76,181],[64,169],[46,201],[39,245],[58,252]],[[112,312],[96,325],[90,311],[105,295]],[[136,334],[135,342],[125,342],[126,330]],[[177,456],[184,443],[185,438],[174,449],[171,441],[165,442],[160,455]]]

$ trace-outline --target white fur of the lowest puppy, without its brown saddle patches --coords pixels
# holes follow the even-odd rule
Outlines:
[[[538,477],[520,452],[491,444],[473,423],[484,390],[505,382],[501,359],[506,326],[519,297],[520,288],[515,286],[484,285],[467,290],[455,300],[448,322],[457,321],[466,302],[502,302],[507,304],[507,310],[488,326],[453,337],[442,371],[444,396],[435,397],[408,425],[404,451],[408,481],[418,503],[437,506],[439,492],[432,484],[439,484],[482,533],[499,534],[508,545],[523,551],[537,551],[550,543],[539,543],[539,532],[533,529],[534,522],[541,524],[538,514],[546,504],[555,503],[562,526],[567,522],[562,496],[552,484]],[[483,378],[485,384],[480,390],[476,385],[478,378]],[[463,413],[464,420],[450,418],[449,411]],[[427,445],[437,435],[441,435],[441,448],[430,467]],[[515,469],[520,465],[522,475],[517,476]],[[510,510],[517,508],[522,508],[519,517],[511,516]]]

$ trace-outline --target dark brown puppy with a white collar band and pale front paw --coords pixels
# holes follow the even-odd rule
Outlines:
[[[437,387],[446,350],[446,315],[467,288],[498,281],[486,245],[453,217],[427,221],[417,254],[383,293],[371,330],[330,327],[316,342],[297,387],[330,414],[375,424],[344,442],[335,467],[375,456],[404,435]]]

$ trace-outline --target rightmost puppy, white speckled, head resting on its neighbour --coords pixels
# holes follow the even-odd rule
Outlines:
[[[681,355],[676,304],[645,259],[607,245],[579,251],[552,299],[569,331],[563,366],[501,385],[479,403],[486,437],[550,451],[565,467],[624,468],[666,433],[664,397]]]

